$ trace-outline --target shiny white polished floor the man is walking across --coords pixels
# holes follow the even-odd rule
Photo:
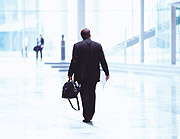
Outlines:
[[[179,77],[110,71],[86,124],[61,98],[67,72],[44,62],[0,58],[0,139],[180,139]]]

